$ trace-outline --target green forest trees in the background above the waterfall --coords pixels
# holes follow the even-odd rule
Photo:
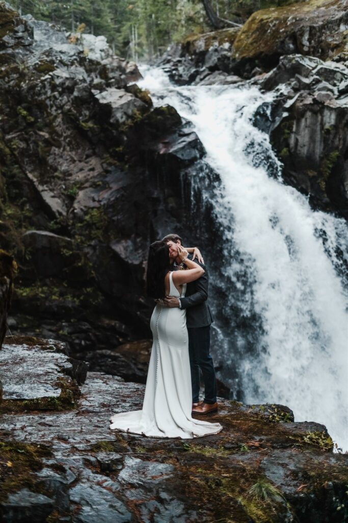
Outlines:
[[[211,31],[205,4],[218,17],[238,24],[256,10],[297,0],[13,0],[22,15],[31,14],[71,32],[104,35],[126,59],[152,60],[172,42]],[[229,24],[226,24],[229,27]],[[215,28],[216,29],[216,28]]]

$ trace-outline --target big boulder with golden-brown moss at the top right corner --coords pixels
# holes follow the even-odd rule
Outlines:
[[[301,53],[323,60],[348,51],[345,0],[308,0],[261,9],[250,16],[234,42],[237,60],[259,59],[270,67],[282,54]]]

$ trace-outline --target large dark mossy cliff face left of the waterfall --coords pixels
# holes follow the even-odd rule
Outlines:
[[[205,151],[173,108],[129,85],[136,65],[105,42],[1,6],[0,237],[20,261],[11,332],[76,354],[149,338],[148,245],[173,230],[191,241],[185,180]],[[19,27],[26,45],[4,40]]]

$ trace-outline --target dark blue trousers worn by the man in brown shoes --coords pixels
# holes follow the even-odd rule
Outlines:
[[[210,326],[208,327],[188,327],[188,353],[190,357],[191,383],[192,383],[192,402],[199,400],[199,369],[203,374],[205,389],[205,403],[215,403],[217,401],[217,380],[213,359],[210,356]]]

